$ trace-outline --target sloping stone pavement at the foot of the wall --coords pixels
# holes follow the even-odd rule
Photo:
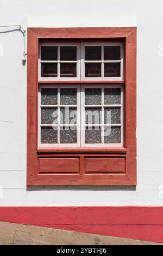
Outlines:
[[[0,245],[161,245],[160,243],[0,222]]]

